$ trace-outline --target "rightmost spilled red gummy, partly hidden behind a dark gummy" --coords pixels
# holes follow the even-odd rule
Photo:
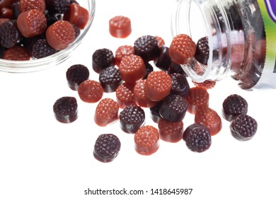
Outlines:
[[[222,119],[215,110],[209,107],[197,107],[195,123],[204,124],[209,128],[211,136],[219,133],[222,129]]]

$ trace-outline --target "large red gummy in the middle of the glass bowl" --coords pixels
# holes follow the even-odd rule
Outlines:
[[[17,27],[24,37],[35,37],[45,32],[47,19],[42,11],[31,9],[19,14]]]

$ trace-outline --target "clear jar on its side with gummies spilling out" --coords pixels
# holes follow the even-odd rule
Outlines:
[[[276,23],[269,13],[269,7],[276,9],[274,1],[176,0],[173,37],[184,33],[197,43],[207,36],[209,43],[207,64],[194,58],[182,65],[188,76],[197,82],[231,76],[243,89],[276,88]]]

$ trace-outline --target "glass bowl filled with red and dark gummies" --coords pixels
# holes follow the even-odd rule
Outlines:
[[[55,0],[0,1],[1,9],[11,11],[9,16],[4,12],[0,13],[0,71],[12,73],[40,71],[64,62],[80,45],[93,22],[95,0],[63,0],[66,4],[63,5],[65,11],[55,2]],[[38,15],[41,15],[42,19],[35,18]],[[29,20],[35,21],[36,24],[40,23],[40,28],[37,27],[38,25],[32,25]],[[61,21],[62,25],[58,24]],[[65,30],[60,26],[65,27]],[[74,34],[71,37],[62,33],[64,31],[67,33],[71,27],[74,28]],[[13,50],[16,48],[14,46],[20,49]],[[43,47],[43,50],[40,47]],[[23,52],[21,52],[22,48],[24,48]],[[20,51],[19,54],[22,57],[27,52],[29,58],[14,60],[13,57],[17,51]],[[45,54],[34,53],[34,51],[43,51]]]

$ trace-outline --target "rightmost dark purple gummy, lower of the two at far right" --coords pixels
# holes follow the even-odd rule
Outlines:
[[[252,139],[258,129],[257,121],[249,115],[238,115],[231,122],[231,134],[238,140]]]

